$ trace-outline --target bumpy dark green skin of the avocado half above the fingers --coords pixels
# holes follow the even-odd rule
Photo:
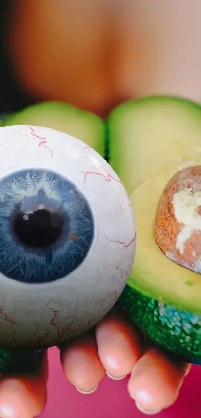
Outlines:
[[[201,365],[201,315],[177,310],[126,285],[120,303],[133,322],[178,360]]]

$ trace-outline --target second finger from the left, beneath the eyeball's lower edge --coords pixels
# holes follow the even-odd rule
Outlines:
[[[94,392],[105,376],[92,333],[76,339],[61,351],[61,363],[66,378],[79,392]]]

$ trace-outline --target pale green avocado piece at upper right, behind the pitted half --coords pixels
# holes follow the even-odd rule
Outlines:
[[[129,101],[111,112],[107,134],[110,164],[130,195],[163,167],[201,154],[201,108],[170,96]]]

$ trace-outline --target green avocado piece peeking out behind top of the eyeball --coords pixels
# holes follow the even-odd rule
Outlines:
[[[105,124],[97,115],[60,102],[29,106],[6,118],[2,126],[37,125],[57,129],[82,140],[105,156]]]

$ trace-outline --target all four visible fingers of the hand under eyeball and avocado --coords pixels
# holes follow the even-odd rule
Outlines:
[[[98,390],[107,374],[115,380],[130,374],[128,392],[144,413],[154,414],[172,405],[191,365],[174,362],[150,344],[120,306],[94,330],[60,350],[68,381],[85,394]],[[0,380],[0,417],[32,418],[46,403],[48,366],[46,353]]]

